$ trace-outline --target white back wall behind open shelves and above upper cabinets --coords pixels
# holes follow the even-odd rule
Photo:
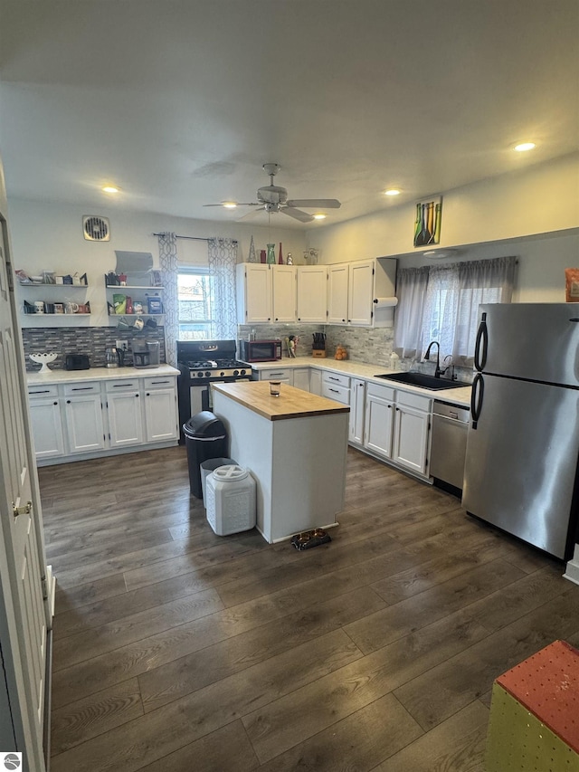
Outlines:
[[[223,236],[239,242],[238,259],[247,261],[250,240],[253,235],[255,249],[264,249],[271,239],[276,243],[276,255],[280,242],[284,259],[288,252],[302,258],[305,235],[299,229],[255,227],[245,224],[220,224],[202,220],[188,220],[163,214],[128,213],[118,209],[100,208],[87,211],[84,206],[45,204],[42,202],[8,199],[14,268],[22,268],[29,274],[52,270],[57,273],[87,272],[90,287],[86,300],[90,301],[90,318],[78,319],[77,323],[106,326],[104,274],[116,266],[115,250],[148,252],[158,265],[157,237],[154,233],[172,231],[182,236]],[[82,215],[100,214],[109,217],[110,241],[89,242],[82,235]],[[275,220],[275,218],[273,218]],[[177,251],[184,262],[206,263],[205,242],[177,241]],[[296,261],[299,262],[299,259]],[[302,260],[303,262],[303,260]],[[25,288],[17,287],[19,300],[25,297]],[[34,298],[33,300],[41,300]],[[77,293],[71,300],[84,302]],[[22,317],[24,326],[34,326],[34,317]],[[63,322],[61,322],[63,323]]]

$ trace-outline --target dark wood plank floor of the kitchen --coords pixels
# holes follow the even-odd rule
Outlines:
[[[215,536],[183,448],[40,479],[52,772],[475,772],[495,677],[579,645],[561,564],[362,453],[303,552]]]

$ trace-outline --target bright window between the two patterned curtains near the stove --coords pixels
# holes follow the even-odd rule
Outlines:
[[[179,268],[179,340],[213,340],[215,335],[214,276],[207,267]]]

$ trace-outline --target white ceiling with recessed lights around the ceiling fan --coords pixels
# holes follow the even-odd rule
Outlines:
[[[579,0],[2,0],[0,14],[9,198],[234,221],[247,210],[203,205],[254,201],[277,162],[290,198],[340,199],[333,224],[579,148]],[[535,151],[512,151],[527,138]]]

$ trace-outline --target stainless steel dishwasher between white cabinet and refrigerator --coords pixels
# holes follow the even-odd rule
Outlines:
[[[432,477],[462,490],[467,452],[469,408],[434,400],[432,408]]]

